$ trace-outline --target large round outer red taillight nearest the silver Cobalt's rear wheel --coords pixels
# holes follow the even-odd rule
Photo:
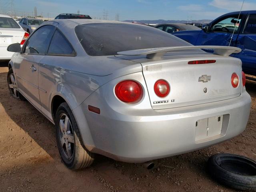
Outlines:
[[[143,96],[141,85],[133,80],[124,80],[115,87],[115,93],[118,99],[126,103],[137,103]]]

